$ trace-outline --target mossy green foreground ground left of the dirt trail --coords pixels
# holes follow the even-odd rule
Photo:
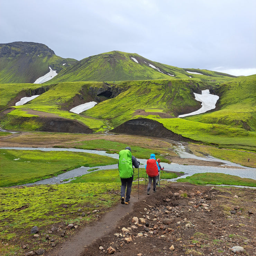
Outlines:
[[[38,249],[30,234],[31,228],[38,226],[40,237],[37,241],[43,248],[48,248],[49,244],[46,243],[43,234],[47,234],[52,225],[90,223],[97,219],[92,213],[93,210],[97,209],[104,213],[120,200],[119,195],[111,192],[119,188],[120,182],[111,183],[110,186],[95,182],[41,185],[20,189],[0,188],[0,240],[10,245],[26,241],[31,250]],[[64,204],[68,207],[64,208]],[[78,216],[79,209],[90,214],[86,214],[85,217]],[[71,233],[67,231],[66,236]],[[8,247],[1,248],[1,255],[10,255],[8,253]]]

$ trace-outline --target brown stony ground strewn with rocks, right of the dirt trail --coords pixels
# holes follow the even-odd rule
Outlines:
[[[256,255],[255,192],[170,183],[81,255]]]

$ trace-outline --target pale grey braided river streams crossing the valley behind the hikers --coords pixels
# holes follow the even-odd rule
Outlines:
[[[84,153],[90,153],[90,154],[98,154],[98,155],[103,155],[103,156],[109,156],[112,158],[117,159],[119,155],[118,154],[108,154],[105,151],[102,150],[88,150],[88,149],[77,149],[77,148],[26,148],[26,147],[1,147],[0,149],[16,149],[16,150],[42,150],[42,151],[71,151],[71,152],[84,152]],[[180,165],[180,164],[167,164],[167,163],[162,163],[161,166],[164,166],[165,171],[174,171],[174,172],[184,172],[185,174],[182,176],[182,178],[185,178],[187,176],[191,176],[195,173],[206,173],[206,172],[212,172],[212,173],[224,173],[224,174],[230,174],[230,175],[235,175],[239,176],[241,178],[250,178],[256,180],[256,168],[250,168],[250,167],[245,167],[241,166],[238,164],[231,163],[229,161],[224,161],[221,159],[217,159],[211,156],[208,157],[198,157],[193,154],[189,154],[185,152],[185,147],[182,144],[177,144],[175,148],[175,152],[180,155],[181,158],[194,158],[194,159],[200,159],[203,161],[217,161],[217,162],[223,162],[223,168],[220,167],[212,167],[212,166],[197,166],[197,165]],[[140,167],[145,169],[145,165],[147,162],[147,159],[137,159],[140,161]],[[226,168],[225,166],[232,165],[232,166],[237,166],[241,168]],[[89,169],[94,169],[98,168],[95,171],[98,170],[107,170],[107,169],[114,169],[117,168],[117,164],[114,165],[107,165],[107,166],[95,166],[95,167],[79,167],[74,170],[62,173],[58,175],[57,177],[37,181],[33,184],[60,184],[60,183],[66,183],[70,182],[74,177],[84,175],[86,173],[89,173]],[[170,181],[176,181],[178,178],[171,179]],[[63,180],[69,179],[66,182],[63,182]],[[32,183],[27,183],[24,185],[32,185]]]

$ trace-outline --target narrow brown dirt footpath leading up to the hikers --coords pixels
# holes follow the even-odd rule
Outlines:
[[[144,192],[144,191],[143,191]],[[142,192],[141,192],[142,193]],[[101,220],[85,228],[80,229],[69,240],[66,240],[61,246],[48,252],[48,256],[80,256],[84,247],[90,245],[98,238],[106,235],[109,231],[115,229],[117,223],[132,211],[134,203],[143,200],[146,194],[131,195],[130,204],[118,204],[110,212],[106,213]],[[128,213],[128,214],[127,214]]]

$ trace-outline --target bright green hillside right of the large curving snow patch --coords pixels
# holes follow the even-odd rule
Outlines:
[[[256,75],[238,77],[222,83],[216,89],[220,96],[217,108],[220,110],[185,117],[186,120],[208,124],[224,124],[256,130]]]

